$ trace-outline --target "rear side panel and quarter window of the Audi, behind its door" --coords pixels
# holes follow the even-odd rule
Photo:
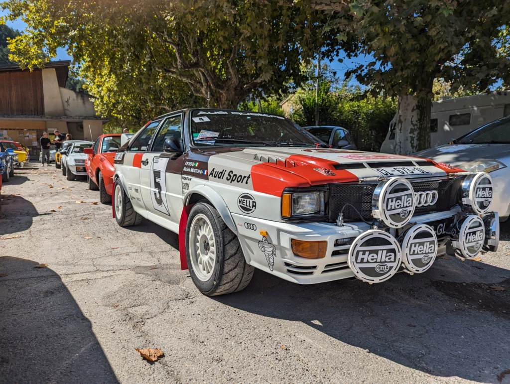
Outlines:
[[[120,169],[124,176],[131,203],[135,211],[140,214],[145,211],[140,190],[140,169],[143,164],[149,164],[147,148],[149,148],[160,123],[161,120],[155,120],[145,125],[133,142],[130,143],[121,163],[115,163],[115,169]]]

